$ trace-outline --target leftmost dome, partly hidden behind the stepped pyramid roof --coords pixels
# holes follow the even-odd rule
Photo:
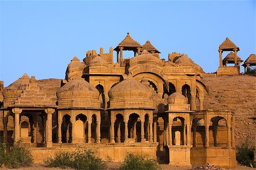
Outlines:
[[[30,83],[30,77],[25,73],[21,78],[11,83],[3,90],[3,104],[4,106],[15,103],[15,100],[22,94],[22,91]]]

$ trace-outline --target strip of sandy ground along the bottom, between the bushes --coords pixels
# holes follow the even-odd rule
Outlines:
[[[117,170],[120,166],[121,166],[121,163],[113,163],[113,162],[109,162],[107,163],[107,166],[109,170]],[[160,167],[163,169],[163,170],[187,170],[187,169],[191,169],[191,168],[184,168],[184,167],[175,167],[175,166],[172,166],[172,165],[168,165],[168,164],[160,164]],[[0,168],[0,169],[7,169],[7,168]],[[61,168],[48,168],[48,167],[45,167],[43,164],[33,164],[31,167],[24,167],[24,168],[18,168],[19,170],[43,170],[43,169],[49,169],[49,170],[58,170],[58,169],[61,169]],[[67,170],[69,169],[72,169],[72,168],[65,168]],[[256,169],[256,168],[250,168],[250,167],[245,167],[245,166],[242,166],[242,165],[237,165],[235,168],[222,168],[223,170],[253,170],[253,169]],[[139,170],[139,169],[138,169]]]

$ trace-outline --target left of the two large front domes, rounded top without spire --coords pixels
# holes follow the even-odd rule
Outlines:
[[[59,107],[100,108],[97,88],[82,78],[70,80],[56,92]]]

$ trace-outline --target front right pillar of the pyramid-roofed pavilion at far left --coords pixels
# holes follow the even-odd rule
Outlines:
[[[47,109],[47,143],[46,147],[52,147],[52,113],[54,113],[54,109]],[[72,131],[73,131],[73,124],[72,124]]]

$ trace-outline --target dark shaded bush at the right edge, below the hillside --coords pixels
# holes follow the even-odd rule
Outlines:
[[[247,167],[256,167],[254,159],[254,147],[249,146],[248,142],[242,144],[242,146],[237,147],[237,162],[246,165]]]

